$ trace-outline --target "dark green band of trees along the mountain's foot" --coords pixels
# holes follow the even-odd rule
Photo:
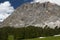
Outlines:
[[[6,26],[0,28],[0,40],[8,40],[9,35],[13,35],[15,40],[20,40],[37,37],[48,37],[57,34],[60,34],[60,28],[58,28],[58,26],[56,26],[54,29],[48,27],[47,25],[44,28],[35,26],[21,28]]]

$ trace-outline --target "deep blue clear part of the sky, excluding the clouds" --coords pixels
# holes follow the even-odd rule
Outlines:
[[[3,3],[5,1],[9,1],[11,5],[16,9],[21,4],[26,3],[26,2],[31,2],[33,0],[0,0],[0,3]]]

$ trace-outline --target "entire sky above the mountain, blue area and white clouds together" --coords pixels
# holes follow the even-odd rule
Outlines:
[[[9,15],[11,15],[14,10],[26,2],[36,3],[36,2],[51,2],[60,5],[60,0],[0,0],[0,22],[5,20]]]

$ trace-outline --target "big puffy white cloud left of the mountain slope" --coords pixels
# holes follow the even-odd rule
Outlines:
[[[6,19],[13,11],[14,8],[11,6],[9,1],[0,3],[0,22]]]

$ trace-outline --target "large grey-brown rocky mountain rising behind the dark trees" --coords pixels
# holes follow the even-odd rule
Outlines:
[[[60,26],[60,6],[50,2],[25,3],[18,7],[2,26]]]

